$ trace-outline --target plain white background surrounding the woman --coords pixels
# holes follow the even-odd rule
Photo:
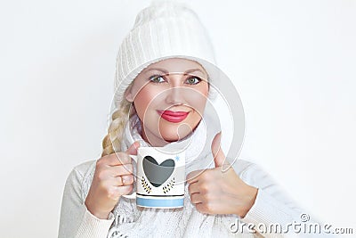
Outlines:
[[[356,2],[187,2],[244,104],[240,158],[314,217],[352,227]],[[1,2],[1,237],[56,237],[66,177],[100,157],[117,49],[147,4]]]

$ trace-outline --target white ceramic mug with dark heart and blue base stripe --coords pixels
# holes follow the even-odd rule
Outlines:
[[[184,205],[185,152],[164,147],[139,147],[136,192],[123,195],[145,208],[173,209]]]

